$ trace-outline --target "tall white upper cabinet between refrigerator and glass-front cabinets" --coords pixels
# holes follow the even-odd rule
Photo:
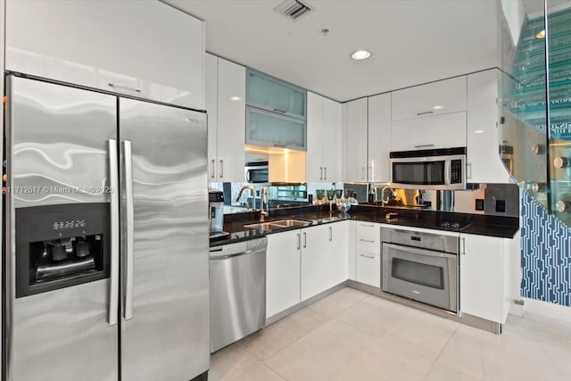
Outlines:
[[[206,54],[208,179],[244,182],[245,68]]]

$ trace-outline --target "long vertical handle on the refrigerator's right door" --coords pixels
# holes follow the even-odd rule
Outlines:
[[[126,236],[125,236],[125,311],[126,320],[133,318],[133,236],[134,215],[133,215],[133,158],[131,153],[131,141],[123,142],[123,152],[125,157],[125,214],[126,214]]]

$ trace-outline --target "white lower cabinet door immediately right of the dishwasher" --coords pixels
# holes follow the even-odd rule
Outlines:
[[[268,236],[266,254],[266,318],[300,302],[300,248],[302,230]]]

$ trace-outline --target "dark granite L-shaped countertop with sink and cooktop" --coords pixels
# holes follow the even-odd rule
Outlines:
[[[392,219],[386,219],[385,216],[389,212],[397,213],[397,216]],[[230,235],[224,239],[211,241],[211,247],[259,238],[261,236],[284,232],[286,230],[332,223],[345,219],[503,238],[513,238],[519,229],[519,219],[516,217],[426,211],[418,209],[407,210],[374,205],[359,205],[356,211],[353,211],[352,213],[341,213],[336,211],[335,208],[330,213],[328,206],[321,205],[271,210],[269,216],[262,216],[260,211],[227,214],[224,216],[224,219],[224,230],[228,231]],[[244,228],[244,225],[275,221],[279,219],[300,219],[307,221],[307,225],[291,228]]]

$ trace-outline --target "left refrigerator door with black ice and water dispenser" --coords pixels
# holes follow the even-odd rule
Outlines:
[[[37,268],[31,275],[28,269],[16,273],[16,264],[22,260],[17,256],[30,255],[26,259],[30,266],[33,264],[32,250],[26,250],[31,244],[16,244],[26,231],[33,233],[40,247],[49,246],[59,237],[91,234],[83,231],[93,228],[89,222],[87,227],[71,227],[64,210],[73,209],[74,214],[88,205],[96,212],[96,205],[100,205],[109,219],[106,204],[110,194],[96,192],[90,186],[108,186],[108,142],[116,139],[117,98],[12,76],[7,77],[7,91],[8,193],[4,202],[8,281],[4,318],[8,351],[4,377],[8,381],[115,381],[118,326],[108,322],[108,275],[95,280],[88,274],[84,277],[74,273],[75,281],[60,288],[42,288],[52,282],[61,286],[67,279],[59,276],[52,281],[40,279],[37,285],[28,281],[24,286],[41,286],[41,291],[19,297],[15,285],[18,274],[31,278],[39,273]],[[27,228],[17,229],[17,210],[44,211],[44,216],[49,210],[57,218],[40,223],[32,217]],[[99,235],[99,239],[106,240],[106,234]],[[47,258],[45,269],[56,269],[62,263],[76,266],[76,246],[69,247],[73,247],[69,259]]]

